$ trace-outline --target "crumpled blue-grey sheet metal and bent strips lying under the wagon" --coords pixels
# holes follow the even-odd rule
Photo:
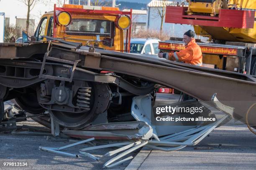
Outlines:
[[[215,99],[215,101],[217,101],[216,97],[213,98]],[[218,105],[220,104],[221,103],[218,102]],[[197,143],[203,140],[210,132],[212,132],[212,130],[214,130],[221,123],[225,122],[225,120],[230,118],[230,115],[226,114],[220,120],[215,121],[212,124],[185,127],[175,126],[175,131],[173,131],[172,129],[169,128],[169,126],[160,127],[152,125],[150,120],[151,114],[151,96],[137,96],[134,97],[132,104],[132,115],[137,121],[91,125],[82,130],[62,130],[61,132],[64,133],[65,135],[75,138],[83,138],[87,140],[67,145],[61,148],[39,147],[39,150],[44,150],[47,152],[56,153],[60,155],[66,155],[73,158],[87,156],[95,161],[103,160],[103,158],[110,158],[111,156],[118,154],[114,158],[108,160],[103,165],[103,168],[112,168],[116,165],[120,165],[125,161],[131,160],[133,158],[131,156],[123,160],[120,159],[142,147],[152,148],[156,150],[172,151],[182,149],[188,145],[197,145]],[[153,138],[155,140],[152,140]],[[115,140],[116,143],[95,145],[94,143],[91,143],[94,139],[107,141]],[[118,140],[121,140],[123,142],[118,142]],[[90,145],[93,146],[80,149],[78,154],[70,154],[59,151],[64,148],[69,148],[86,142],[90,142]],[[110,147],[120,148],[110,151],[103,155],[102,157],[97,157],[87,152],[89,150]],[[196,147],[194,149],[202,150],[212,148]]]

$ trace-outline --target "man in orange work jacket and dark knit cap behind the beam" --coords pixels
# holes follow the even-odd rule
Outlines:
[[[179,52],[164,52],[159,53],[158,57],[166,58],[172,61],[183,61],[187,64],[202,66],[202,52],[201,48],[195,42],[195,33],[192,30],[188,30],[183,35],[183,41],[185,42],[185,49]]]

